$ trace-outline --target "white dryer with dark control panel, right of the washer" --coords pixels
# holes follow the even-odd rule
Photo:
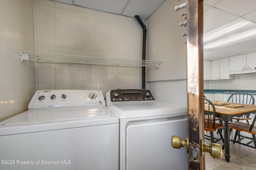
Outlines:
[[[120,170],[186,170],[188,154],[173,149],[172,135],[188,135],[187,107],[158,102],[150,90],[117,89],[106,94],[120,118]]]

